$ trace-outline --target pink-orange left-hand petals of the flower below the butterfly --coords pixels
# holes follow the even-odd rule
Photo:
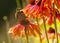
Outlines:
[[[20,37],[21,35],[21,31],[23,31],[24,27],[20,24],[17,24],[13,27],[10,28],[10,30],[8,31],[8,33],[12,33],[13,38],[17,39],[18,37]]]

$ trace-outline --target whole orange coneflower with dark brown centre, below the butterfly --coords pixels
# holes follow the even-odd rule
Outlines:
[[[10,28],[8,32],[12,33],[13,38],[16,39],[20,36],[22,37],[25,36],[25,29],[28,36],[30,35],[36,36],[36,33],[41,34],[38,26],[31,23],[28,18],[20,20],[19,23]]]

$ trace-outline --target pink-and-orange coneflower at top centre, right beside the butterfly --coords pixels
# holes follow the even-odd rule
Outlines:
[[[36,0],[35,0],[36,2]],[[28,4],[22,11],[25,13],[25,15],[29,18],[40,18],[41,16],[41,8],[40,8],[40,1],[35,4]]]

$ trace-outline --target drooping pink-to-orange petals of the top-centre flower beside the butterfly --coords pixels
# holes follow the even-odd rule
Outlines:
[[[26,9],[27,10],[23,10],[23,12],[26,14],[27,17],[36,18],[40,16],[40,11],[41,11],[40,6],[32,5],[31,7],[26,7]]]

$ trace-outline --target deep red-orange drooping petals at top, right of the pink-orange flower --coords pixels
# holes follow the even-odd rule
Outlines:
[[[44,16],[49,16],[50,13],[52,13],[53,11],[52,0],[42,0],[40,7],[42,9]]]

